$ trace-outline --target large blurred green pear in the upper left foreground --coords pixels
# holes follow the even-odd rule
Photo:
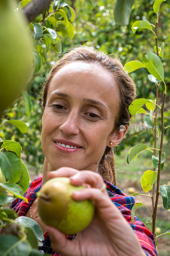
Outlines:
[[[30,79],[31,41],[26,19],[13,0],[0,0],[0,116]]]

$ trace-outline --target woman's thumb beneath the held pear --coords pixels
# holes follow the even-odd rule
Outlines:
[[[76,238],[73,240],[73,243],[71,240],[66,239],[65,235],[54,227],[46,226],[46,230],[51,240],[51,246],[55,252],[65,256],[80,255],[78,243],[75,242]]]

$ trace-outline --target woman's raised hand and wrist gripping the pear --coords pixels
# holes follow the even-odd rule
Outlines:
[[[103,187],[103,178],[92,171],[78,171],[69,167],[49,173],[49,178],[70,177],[72,185],[86,185],[85,189],[74,192],[77,201],[93,200],[95,214],[90,225],[77,233],[73,241],[65,238],[58,229],[47,226],[47,232],[54,251],[65,256],[144,256],[137,236],[122,213],[110,200]]]

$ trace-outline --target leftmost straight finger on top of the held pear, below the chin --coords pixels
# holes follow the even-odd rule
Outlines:
[[[56,177],[70,177],[75,175],[80,171],[70,168],[70,167],[61,167],[57,169],[56,171],[49,172],[48,177],[49,179],[56,178]]]

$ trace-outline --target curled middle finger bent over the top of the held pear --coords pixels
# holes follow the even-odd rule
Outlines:
[[[70,183],[72,185],[79,186],[84,182],[89,184],[92,188],[99,188],[99,189],[101,189],[104,184],[102,176],[92,171],[77,172],[70,177]]]

